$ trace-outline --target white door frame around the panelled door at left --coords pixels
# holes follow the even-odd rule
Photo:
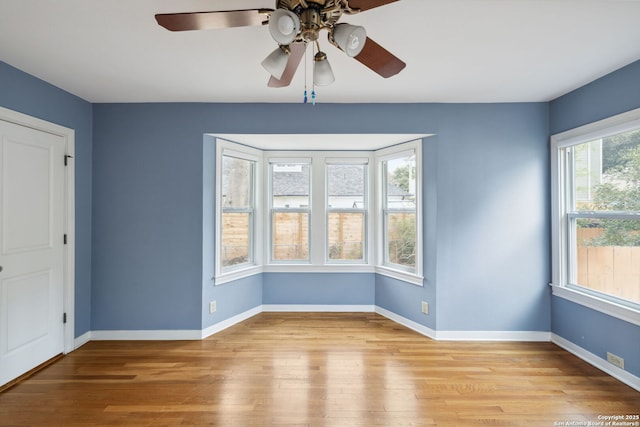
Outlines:
[[[62,137],[65,154],[71,156],[64,174],[64,233],[67,235],[67,244],[63,245],[62,306],[67,314],[67,322],[63,325],[66,354],[75,349],[75,131],[4,107],[0,107],[0,120]],[[65,159],[60,161],[64,162]]]

